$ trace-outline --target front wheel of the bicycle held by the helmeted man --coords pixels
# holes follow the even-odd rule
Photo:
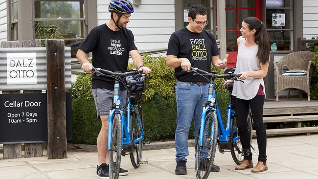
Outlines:
[[[118,179],[122,149],[121,115],[118,113],[114,115],[112,129],[109,175],[110,179]]]

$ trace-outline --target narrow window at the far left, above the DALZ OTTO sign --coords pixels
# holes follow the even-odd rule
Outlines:
[[[10,9],[11,9],[11,28],[10,28],[10,39],[11,41],[18,40],[18,0],[10,1]]]

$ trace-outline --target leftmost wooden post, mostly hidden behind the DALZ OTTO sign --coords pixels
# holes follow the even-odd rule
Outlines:
[[[19,47],[19,41],[1,42],[1,47]],[[20,93],[20,90],[2,91],[3,94]],[[21,158],[21,143],[3,144],[3,159]]]

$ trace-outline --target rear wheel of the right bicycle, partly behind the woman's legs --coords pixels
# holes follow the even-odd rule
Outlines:
[[[238,134],[238,129],[237,129],[237,124],[236,124],[236,117],[234,116],[231,119],[231,123],[230,123],[230,135],[233,136],[233,138],[239,136]],[[249,130],[249,137],[250,137],[250,144],[252,143],[252,116],[251,116],[251,112],[250,112],[250,108],[249,108],[249,113],[248,113],[248,118],[247,118],[247,123],[248,123],[248,130]],[[235,144],[233,143],[233,145],[231,146],[231,156],[234,160],[234,162],[239,165],[242,163],[244,156],[242,156],[241,154],[239,154],[239,152],[236,150],[236,148],[234,147],[234,145],[236,145],[240,151],[242,151],[242,144],[241,144],[241,140],[237,140],[235,142]],[[250,151],[251,152],[251,151]]]

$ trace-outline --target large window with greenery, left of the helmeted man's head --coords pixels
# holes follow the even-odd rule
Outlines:
[[[35,39],[64,39],[66,46],[78,47],[85,39],[84,0],[34,0]],[[75,57],[71,50],[71,57]]]

